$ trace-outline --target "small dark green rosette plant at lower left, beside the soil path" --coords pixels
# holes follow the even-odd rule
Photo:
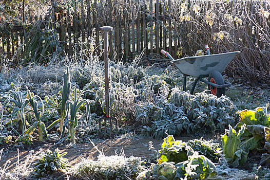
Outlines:
[[[60,153],[59,149],[55,149],[53,152],[48,150],[37,163],[34,164],[33,175],[45,176],[46,174],[67,170],[68,160],[63,156],[67,153]]]

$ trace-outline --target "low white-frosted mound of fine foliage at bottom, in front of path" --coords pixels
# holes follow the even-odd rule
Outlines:
[[[98,150],[97,147],[95,148]],[[105,156],[101,151],[99,153],[97,161],[83,159],[81,163],[75,165],[71,169],[72,175],[89,180],[135,179],[140,172],[146,170],[142,166],[140,157],[131,156],[127,158],[124,152],[112,156]]]

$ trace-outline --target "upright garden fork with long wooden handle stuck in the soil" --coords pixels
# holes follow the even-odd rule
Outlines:
[[[117,135],[117,131],[118,131],[118,122],[117,122],[117,118],[115,117],[110,117],[110,113],[109,113],[109,105],[110,105],[110,99],[109,99],[109,57],[108,57],[108,31],[111,32],[112,31],[112,27],[110,26],[103,26],[100,28],[100,30],[103,31],[103,35],[104,35],[104,66],[105,66],[105,103],[106,103],[106,107],[105,107],[105,113],[106,113],[106,117],[101,117],[99,119],[99,137],[107,137],[106,136],[106,131],[107,131],[107,120],[110,121],[110,137],[112,137],[112,120],[115,121],[115,127],[116,127],[116,135]],[[104,120],[104,135],[101,134],[101,120]]]

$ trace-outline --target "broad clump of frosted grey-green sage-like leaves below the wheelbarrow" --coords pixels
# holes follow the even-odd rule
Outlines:
[[[160,92],[163,92],[163,88],[160,88]],[[163,94],[155,98],[155,103],[137,104],[134,115],[144,125],[144,136],[163,138],[166,130],[170,135],[180,135],[183,131],[215,131],[235,124],[236,109],[226,96],[218,98],[205,93],[194,96],[178,88],[172,89],[168,99],[166,93]]]

